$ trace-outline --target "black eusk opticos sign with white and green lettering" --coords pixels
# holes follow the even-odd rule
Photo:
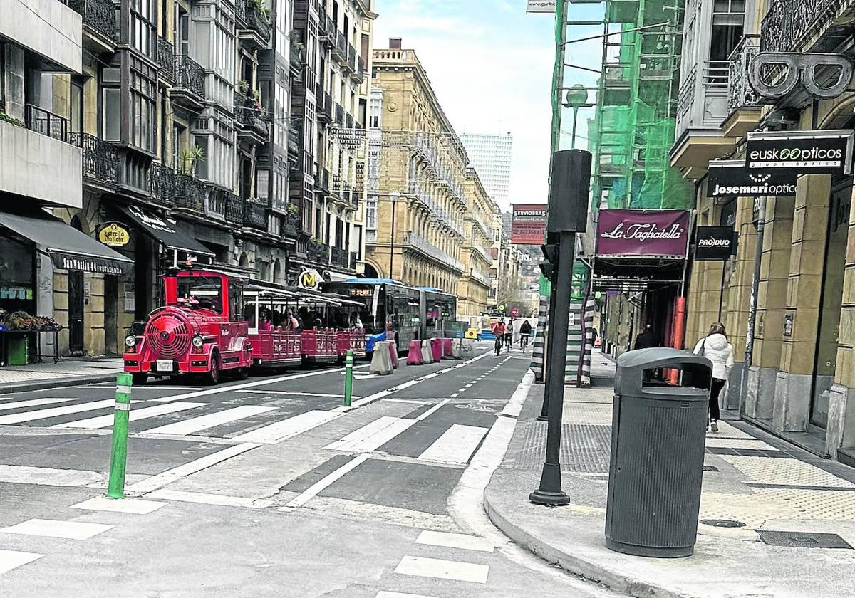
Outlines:
[[[752,131],[746,167],[753,173],[848,174],[852,130]]]

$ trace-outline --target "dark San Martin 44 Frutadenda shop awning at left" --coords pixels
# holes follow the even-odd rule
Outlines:
[[[50,255],[55,267],[101,274],[121,274],[133,267],[133,260],[48,214],[0,212],[0,226],[36,243]]]

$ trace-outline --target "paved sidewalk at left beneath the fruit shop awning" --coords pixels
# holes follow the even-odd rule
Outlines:
[[[28,366],[0,367],[0,393],[43,390],[77,384],[109,382],[122,371],[121,357],[63,359]]]

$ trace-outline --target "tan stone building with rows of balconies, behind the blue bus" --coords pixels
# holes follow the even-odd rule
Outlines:
[[[389,45],[373,56],[365,273],[457,293],[466,150],[416,52]]]

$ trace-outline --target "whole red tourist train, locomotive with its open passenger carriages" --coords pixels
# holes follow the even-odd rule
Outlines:
[[[201,268],[169,273],[163,286],[164,307],[125,339],[133,384],[181,374],[217,384],[223,372],[246,378],[251,367],[330,363],[348,350],[365,355],[364,331],[347,315],[360,304],[345,297]]]

